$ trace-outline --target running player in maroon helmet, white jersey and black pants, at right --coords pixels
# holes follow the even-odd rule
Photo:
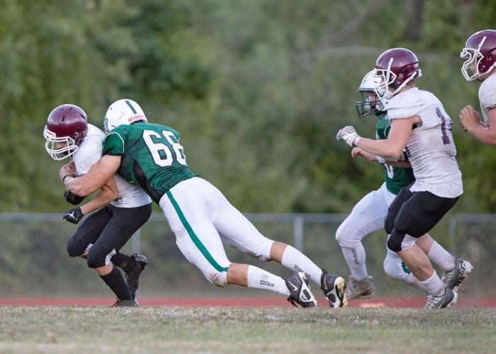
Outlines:
[[[388,139],[363,138],[351,126],[339,130],[337,138],[388,159],[399,159],[405,149],[416,179],[400,190],[388,209],[387,246],[398,253],[427,291],[427,309],[449,307],[456,303],[458,294],[441,281],[416,241],[441,220],[463,193],[452,121],[436,96],[415,87],[421,71],[412,51],[386,50],[376,61],[375,73],[381,79],[375,91],[390,120]],[[469,263],[461,265],[461,273],[468,273],[465,266]]]

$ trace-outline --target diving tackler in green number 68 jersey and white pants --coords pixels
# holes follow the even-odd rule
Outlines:
[[[292,304],[313,307],[317,302],[308,286],[310,278],[324,291],[330,307],[346,305],[342,277],[328,274],[292,246],[262,235],[220,190],[191,173],[179,132],[149,123],[137,111],[141,111],[137,103],[124,99],[108,108],[103,156],[85,176],[62,176],[69,190],[88,195],[119,173],[141,185],[160,205],[177,246],[209,282],[270,290],[286,295]],[[231,263],[222,241],[298,273],[285,280],[254,265]]]

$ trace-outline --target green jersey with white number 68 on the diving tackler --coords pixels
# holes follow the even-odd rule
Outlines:
[[[186,164],[179,132],[164,125],[135,122],[111,130],[102,155],[122,156],[118,173],[159,202],[177,183],[198,176]]]

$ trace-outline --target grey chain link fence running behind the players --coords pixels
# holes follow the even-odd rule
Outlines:
[[[341,214],[247,214],[267,237],[302,250],[329,273],[348,276],[341,249],[334,234],[346,215]],[[468,259],[475,271],[464,286],[472,296],[496,294],[496,215],[449,215],[432,231],[434,239],[457,256]],[[86,260],[71,258],[66,242],[76,227],[62,221],[59,214],[0,214],[0,297],[64,297],[109,295]],[[378,295],[405,295],[417,292],[390,280],[382,269],[385,234],[379,230],[363,239],[368,272],[376,279]],[[140,295],[201,296],[234,295],[239,287],[220,290],[181,254],[174,234],[162,214],[152,215],[125,245],[124,253],[145,254],[150,266],[142,275]],[[227,256],[237,263],[250,263],[278,275],[291,271],[274,262],[261,262],[226,246]],[[247,295],[247,290],[241,290]],[[260,295],[257,290],[253,294]]]

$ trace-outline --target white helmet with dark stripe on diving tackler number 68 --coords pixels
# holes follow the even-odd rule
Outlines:
[[[108,107],[105,118],[103,119],[103,129],[108,134],[111,130],[123,124],[131,124],[134,122],[147,122],[147,117],[140,105],[135,101],[124,98],[115,101]]]

